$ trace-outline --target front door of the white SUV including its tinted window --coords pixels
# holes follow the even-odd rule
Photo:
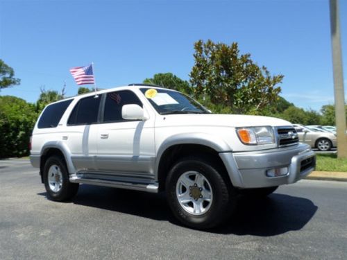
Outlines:
[[[137,104],[130,90],[110,92],[98,125],[96,166],[99,172],[124,177],[153,177],[155,157],[154,119],[129,121],[121,116],[121,107]]]

